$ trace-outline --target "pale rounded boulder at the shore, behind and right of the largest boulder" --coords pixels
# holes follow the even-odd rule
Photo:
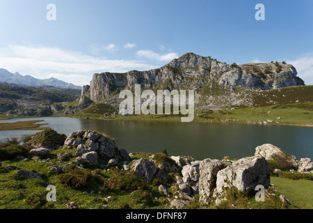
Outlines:
[[[281,148],[272,144],[263,144],[255,148],[255,155],[262,155],[267,161],[277,162],[280,169],[298,169],[298,163],[294,155],[287,155]]]

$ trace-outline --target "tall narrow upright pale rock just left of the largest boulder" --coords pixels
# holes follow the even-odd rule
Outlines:
[[[200,203],[207,203],[216,187],[216,175],[223,168],[223,162],[220,160],[206,159],[200,162],[199,177],[199,195]]]

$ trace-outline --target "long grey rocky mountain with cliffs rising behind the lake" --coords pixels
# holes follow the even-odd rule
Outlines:
[[[286,86],[304,85],[294,66],[285,62],[222,63],[210,56],[187,53],[154,70],[131,70],[125,73],[104,72],[93,75],[90,86],[83,86],[82,97],[93,102],[103,100],[122,89],[198,90],[204,86],[232,89],[270,90]]]

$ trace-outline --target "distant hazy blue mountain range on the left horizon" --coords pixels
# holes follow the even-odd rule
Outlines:
[[[0,68],[0,83],[18,84],[22,86],[55,86],[63,89],[81,89],[81,86],[63,82],[54,77],[50,77],[49,79],[37,79],[30,75],[20,75],[18,72],[12,73],[3,68]]]

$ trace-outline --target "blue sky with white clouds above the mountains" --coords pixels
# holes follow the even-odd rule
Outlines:
[[[0,0],[0,68],[10,72],[84,85],[95,72],[159,68],[186,52],[287,61],[313,84],[313,1]]]

